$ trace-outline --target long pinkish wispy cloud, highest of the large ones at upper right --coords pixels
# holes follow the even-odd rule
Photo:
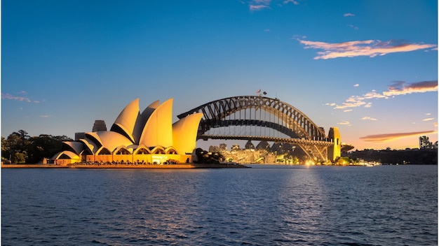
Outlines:
[[[414,50],[424,50],[437,48],[433,44],[424,43],[401,43],[400,41],[366,40],[349,41],[344,43],[325,43],[320,41],[305,41],[297,38],[299,43],[305,45],[305,49],[323,50],[317,52],[318,56],[314,59],[335,59],[339,57],[376,57],[377,55],[387,55],[396,52],[410,52]]]

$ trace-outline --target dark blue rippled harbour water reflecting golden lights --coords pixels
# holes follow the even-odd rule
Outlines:
[[[438,245],[438,166],[2,169],[1,245]]]

